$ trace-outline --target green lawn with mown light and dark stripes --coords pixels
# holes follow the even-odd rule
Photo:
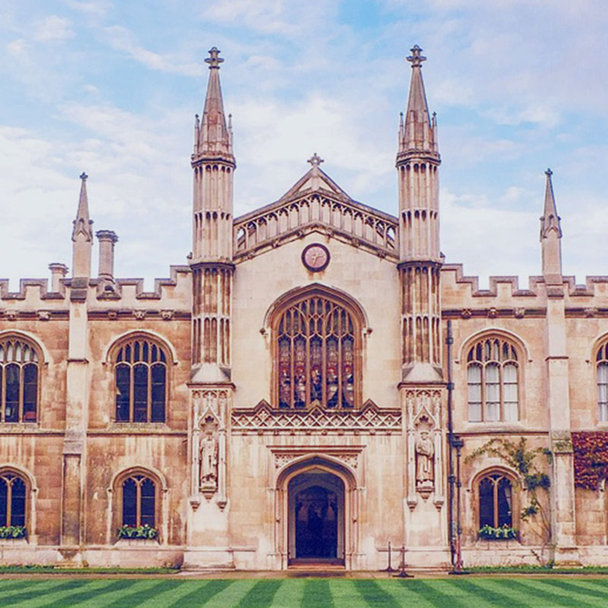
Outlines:
[[[0,606],[606,608],[608,579],[5,579]]]

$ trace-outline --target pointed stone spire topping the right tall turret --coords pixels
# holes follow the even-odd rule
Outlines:
[[[429,117],[422,78],[422,63],[426,61],[426,57],[423,57],[422,49],[417,44],[410,50],[412,55],[407,57],[407,61],[412,64],[412,80],[405,123],[399,124],[399,154],[425,151],[438,159],[437,121],[435,114],[432,120]]]

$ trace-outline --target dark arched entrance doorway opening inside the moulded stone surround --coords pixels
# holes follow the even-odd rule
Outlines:
[[[289,480],[289,564],[344,564],[344,496],[342,479],[323,469]]]

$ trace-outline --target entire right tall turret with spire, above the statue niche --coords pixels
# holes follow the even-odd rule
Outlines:
[[[439,174],[437,122],[429,118],[414,46],[407,58],[412,79],[405,117],[399,119],[399,258],[402,292],[402,381],[441,381]],[[405,118],[405,120],[404,120]]]

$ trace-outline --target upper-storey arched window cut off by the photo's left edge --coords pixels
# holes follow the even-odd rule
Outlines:
[[[22,337],[0,339],[3,422],[36,422],[38,361],[38,351]]]

